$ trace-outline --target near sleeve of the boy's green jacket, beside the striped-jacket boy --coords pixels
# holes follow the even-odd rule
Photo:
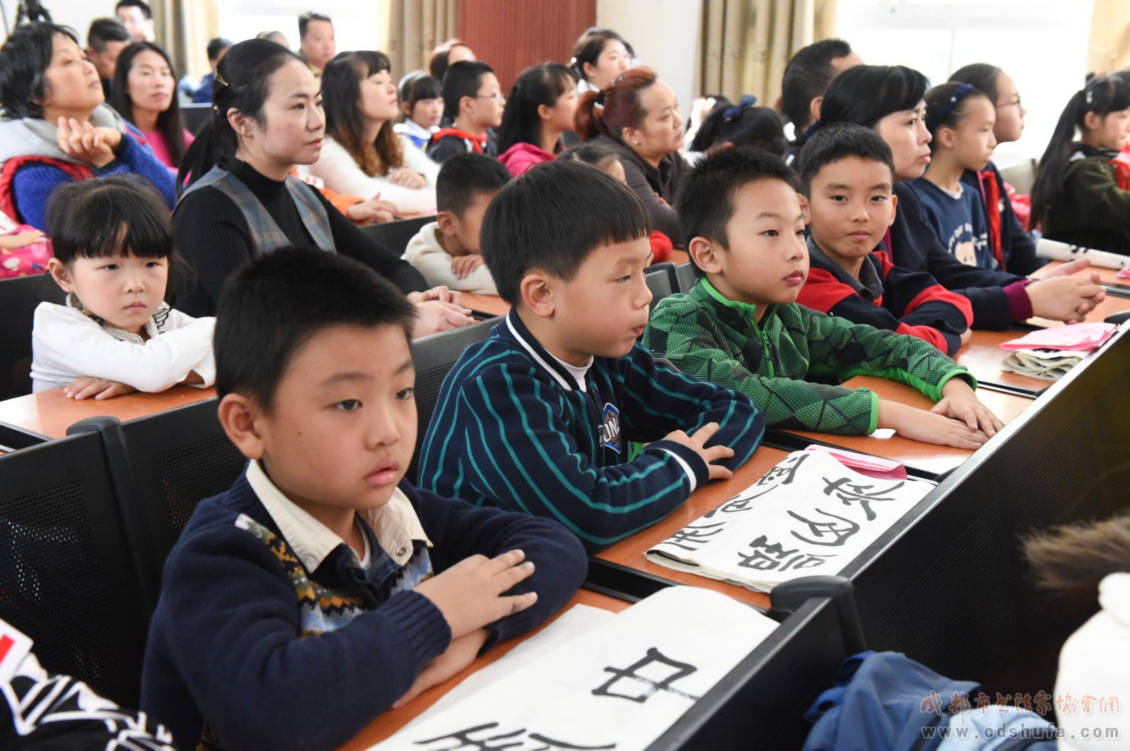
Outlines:
[[[643,343],[683,373],[749,396],[767,427],[840,435],[868,435],[876,428],[878,398],[873,392],[773,377],[760,340],[713,320],[686,295],[660,302]],[[756,372],[746,364],[756,353],[750,350],[760,352],[753,366]]]

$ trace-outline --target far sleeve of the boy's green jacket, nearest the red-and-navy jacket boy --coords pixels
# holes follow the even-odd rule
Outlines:
[[[941,387],[962,376],[976,387],[970,372],[945,352],[918,337],[896,334],[845,318],[793,306],[808,332],[809,373],[847,381],[858,375],[879,376],[914,386],[933,401]]]

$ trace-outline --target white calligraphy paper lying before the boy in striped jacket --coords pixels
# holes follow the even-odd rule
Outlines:
[[[867,477],[825,452],[798,451],[646,557],[768,592],[802,576],[838,574],[933,488],[927,480]]]

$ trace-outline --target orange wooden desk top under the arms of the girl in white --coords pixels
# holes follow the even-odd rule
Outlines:
[[[51,438],[62,438],[67,435],[67,428],[88,417],[116,417],[124,422],[215,395],[216,388],[211,386],[173,386],[159,394],[133,392],[102,401],[75,401],[64,396],[60,387],[0,402],[0,422],[16,425]]]

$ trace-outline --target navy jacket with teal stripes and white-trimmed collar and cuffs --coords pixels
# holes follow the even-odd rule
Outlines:
[[[657,364],[636,344],[596,357],[584,388],[513,311],[447,374],[420,448],[419,486],[556,519],[592,553],[678,508],[710,477],[662,438],[718,422],[707,445],[753,455],[765,426],[740,393]],[[629,461],[629,442],[649,445]]]

